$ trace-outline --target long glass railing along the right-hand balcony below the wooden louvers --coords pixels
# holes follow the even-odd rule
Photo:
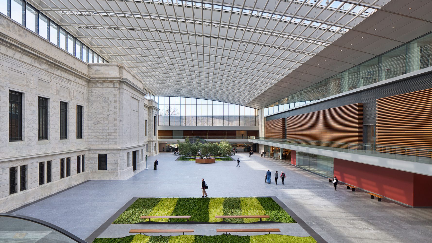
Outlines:
[[[310,147],[344,153],[354,153],[395,160],[432,164],[432,148],[430,147],[401,147],[391,144],[357,144],[301,139],[290,140],[274,137],[254,137],[249,139],[255,140],[256,142],[264,141],[277,144],[288,144],[299,147]]]

